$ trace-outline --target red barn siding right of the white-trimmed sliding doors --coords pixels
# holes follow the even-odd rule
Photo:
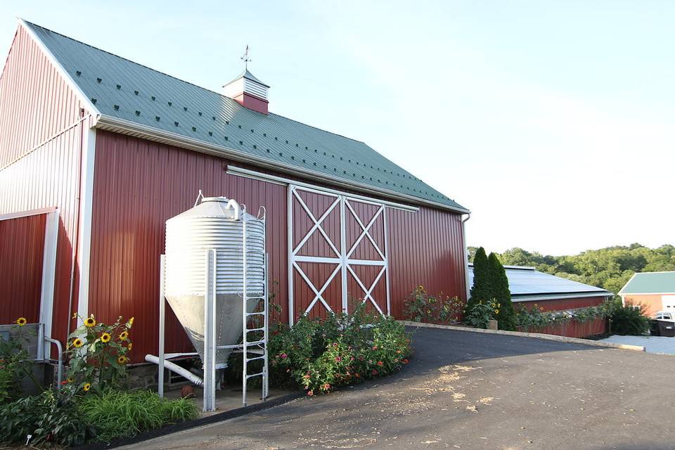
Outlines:
[[[387,208],[392,315],[418,285],[432,294],[465,300],[464,238],[460,214],[420,207],[416,213]]]

